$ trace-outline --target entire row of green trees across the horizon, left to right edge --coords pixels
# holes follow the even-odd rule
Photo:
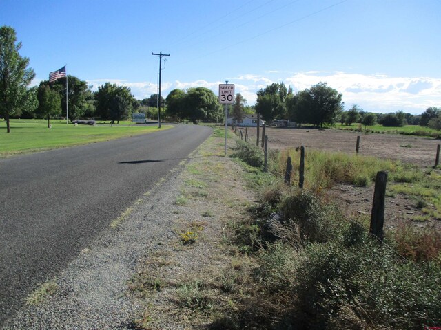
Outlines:
[[[167,98],[136,100],[129,87],[105,83],[92,91],[92,86],[75,76],[65,76],[50,83],[43,80],[37,87],[28,87],[35,74],[28,68],[29,58],[19,54],[21,43],[17,42],[14,28],[0,28],[0,115],[7,122],[10,132],[10,118],[63,117],[66,109],[66,79],[68,80],[68,109],[70,120],[79,118],[101,118],[119,122],[130,118],[132,113],[146,113],[154,118],[156,107],[165,107],[165,117],[170,120],[189,120],[194,124],[222,122],[223,107],[213,91],[205,87],[174,89]],[[365,126],[379,123],[383,126],[404,126],[420,124],[441,129],[441,108],[430,107],[421,115],[410,113],[367,113],[358,105],[345,111],[342,94],[327,83],[318,83],[309,89],[294,93],[292,87],[283,83],[272,83],[257,92],[254,107],[246,105],[241,94],[228,105],[228,112],[236,120],[242,120],[246,113],[260,113],[268,123],[274,120],[290,120],[297,125],[323,124],[351,125],[359,122]]]

